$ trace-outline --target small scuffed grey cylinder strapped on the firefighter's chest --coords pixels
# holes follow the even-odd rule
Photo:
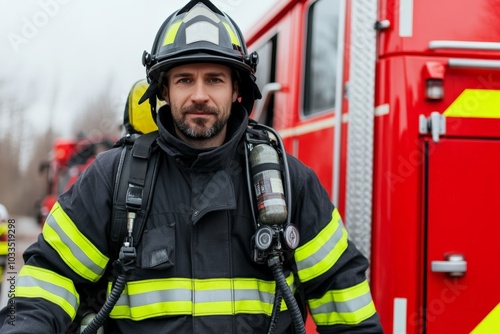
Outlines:
[[[287,207],[278,153],[270,145],[259,144],[250,151],[249,158],[260,222],[284,223]]]

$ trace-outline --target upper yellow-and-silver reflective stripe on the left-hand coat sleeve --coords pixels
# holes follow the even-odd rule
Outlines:
[[[96,282],[104,274],[109,258],[78,230],[58,202],[50,211],[42,233],[63,261],[83,278]]]

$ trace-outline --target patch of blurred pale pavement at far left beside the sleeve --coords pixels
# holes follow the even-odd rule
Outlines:
[[[17,279],[19,270],[21,270],[21,267],[24,265],[24,251],[37,240],[41,232],[41,228],[37,224],[35,218],[13,216],[12,219],[15,221],[15,230],[9,232],[15,235],[15,239],[10,240],[10,242],[15,243],[15,245],[12,245],[15,252],[15,260],[11,261],[7,259],[7,268],[4,271],[0,289],[0,308],[7,305],[8,295],[13,292],[13,287],[11,287],[10,282],[14,282],[14,279]]]

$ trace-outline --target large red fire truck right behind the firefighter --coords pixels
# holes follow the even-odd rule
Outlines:
[[[385,332],[500,333],[498,1],[281,0],[245,36],[252,117],[329,191]]]

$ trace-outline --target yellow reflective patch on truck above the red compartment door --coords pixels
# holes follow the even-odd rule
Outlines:
[[[444,111],[446,117],[500,118],[500,90],[465,89]]]

